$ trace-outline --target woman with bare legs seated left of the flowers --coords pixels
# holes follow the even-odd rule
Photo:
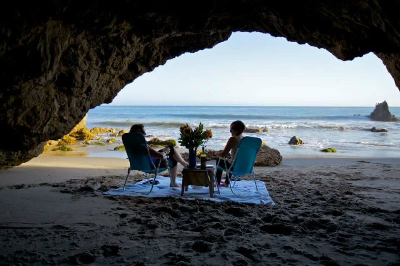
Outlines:
[[[135,124],[130,128],[130,133],[132,132],[140,132],[144,136],[146,135],[146,131],[144,130],[144,125],[143,124]],[[169,146],[166,148],[163,148],[159,151],[155,150],[153,147],[150,145],[148,146],[148,150],[150,152],[151,157],[157,159],[154,164],[157,166],[159,163],[159,160],[162,160],[165,155],[169,155],[169,169],[171,171],[171,184],[170,186],[172,187],[172,184],[174,187],[181,187],[180,184],[176,183],[176,174],[178,170],[178,162],[184,166],[188,165],[188,163],[183,160],[182,156],[178,152],[175,152],[175,148],[173,146]],[[160,167],[166,167],[165,160],[161,161]]]

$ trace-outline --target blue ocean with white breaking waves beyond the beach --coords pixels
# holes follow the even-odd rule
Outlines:
[[[247,127],[268,129],[262,133],[244,133],[260,137],[283,156],[318,156],[324,148],[335,148],[331,156],[400,158],[400,122],[371,121],[374,107],[272,107],[272,106],[107,106],[88,112],[87,127],[130,129],[145,125],[146,133],[159,139],[178,139],[179,126],[199,122],[211,129],[213,137],[207,149],[222,149],[230,137],[229,126],[242,120]],[[390,112],[400,117],[400,107]],[[386,128],[387,133],[370,131]],[[289,145],[298,136],[305,145]],[[110,151],[112,153],[113,151]],[[124,156],[124,155],[123,155]],[[111,155],[111,157],[114,157]]]

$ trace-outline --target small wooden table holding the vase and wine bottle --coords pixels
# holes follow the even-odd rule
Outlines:
[[[209,195],[214,197],[214,166],[207,166],[201,169],[199,165],[196,168],[184,167],[182,170],[182,196],[187,191],[189,185],[209,187]],[[218,188],[219,190],[219,188]]]

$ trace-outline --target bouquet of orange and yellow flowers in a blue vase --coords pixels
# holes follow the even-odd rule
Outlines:
[[[197,148],[212,138],[212,131],[211,129],[204,131],[201,122],[194,130],[188,124],[182,125],[179,130],[180,138],[178,142],[189,149],[189,167],[195,168],[197,163]]]

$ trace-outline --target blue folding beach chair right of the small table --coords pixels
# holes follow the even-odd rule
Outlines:
[[[261,148],[262,140],[260,138],[254,137],[244,137],[241,139],[239,148],[237,149],[236,155],[233,159],[222,158],[228,161],[231,165],[230,167],[226,167],[226,161],[224,161],[225,166],[219,166],[218,161],[216,162],[216,168],[226,172],[226,176],[229,181],[229,187],[233,194],[233,187],[236,185],[236,180],[238,176],[243,176],[247,174],[252,174],[254,178],[255,188],[258,191],[257,182],[255,181],[255,173],[253,170],[253,166],[255,163],[255,159],[257,157],[258,151]],[[230,181],[229,175],[234,176],[234,184],[232,186],[232,182]]]

